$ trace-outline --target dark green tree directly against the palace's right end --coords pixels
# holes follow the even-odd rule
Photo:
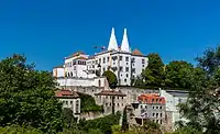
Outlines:
[[[164,63],[158,54],[147,55],[148,66],[142,71],[145,85],[150,87],[161,87],[164,83]]]

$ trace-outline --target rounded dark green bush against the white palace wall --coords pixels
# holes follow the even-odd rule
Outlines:
[[[116,89],[117,88],[118,79],[117,79],[117,76],[116,76],[114,72],[112,72],[111,70],[107,70],[107,71],[103,72],[102,76],[107,77],[107,80],[109,82],[109,87],[111,89]]]

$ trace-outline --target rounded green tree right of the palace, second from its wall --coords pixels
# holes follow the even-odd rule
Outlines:
[[[168,88],[190,89],[194,66],[184,60],[170,62],[165,67],[165,86]]]

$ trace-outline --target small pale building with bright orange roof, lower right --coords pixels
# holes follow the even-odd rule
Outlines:
[[[138,97],[138,103],[132,103],[139,124],[150,120],[161,125],[165,124],[165,98],[157,93],[146,93]]]

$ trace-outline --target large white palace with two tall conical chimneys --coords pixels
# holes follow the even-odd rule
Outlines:
[[[141,75],[147,64],[148,58],[139,49],[131,51],[127,29],[120,46],[112,29],[108,49],[92,56],[75,53],[65,58],[64,65],[54,67],[53,76],[61,86],[105,87],[101,82],[105,78],[98,76],[110,69],[117,75],[119,86],[131,86],[131,79]]]

